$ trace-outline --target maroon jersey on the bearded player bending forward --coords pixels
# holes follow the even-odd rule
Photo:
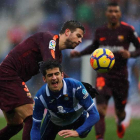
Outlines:
[[[27,38],[11,50],[1,63],[0,80],[11,80],[19,76],[26,82],[39,73],[40,61],[57,59],[61,62],[62,54],[58,45],[58,35],[50,32],[36,33]]]

